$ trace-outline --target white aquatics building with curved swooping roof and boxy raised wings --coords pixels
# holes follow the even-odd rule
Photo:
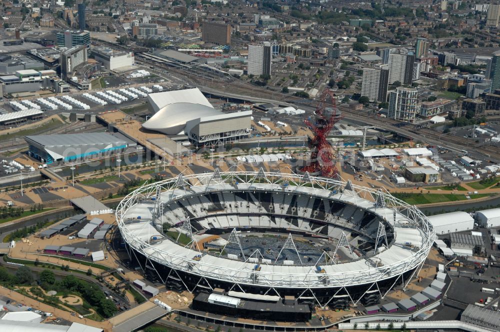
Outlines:
[[[142,127],[167,135],[186,134],[196,144],[220,144],[247,137],[251,111],[224,113],[198,88],[149,93],[154,113]]]

